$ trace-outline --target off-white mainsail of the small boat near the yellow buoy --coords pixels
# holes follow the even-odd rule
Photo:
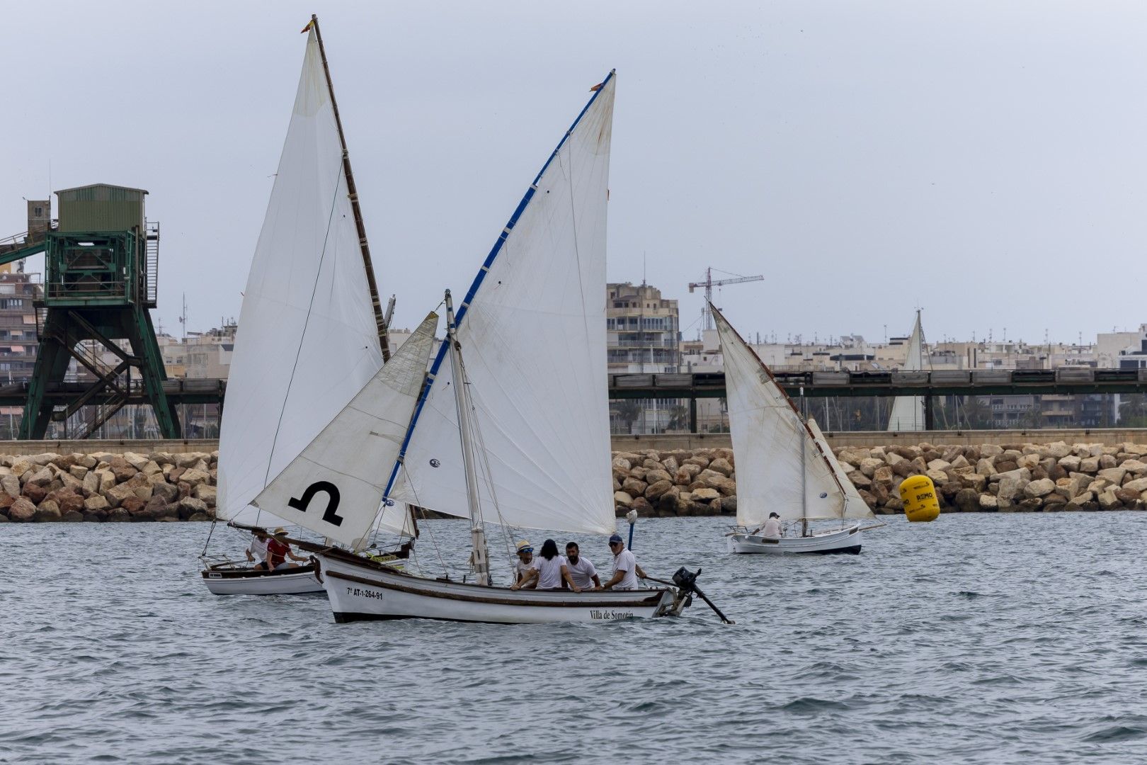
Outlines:
[[[829,463],[768,369],[717,309],[736,459],[736,522],[838,518],[844,498]]]

